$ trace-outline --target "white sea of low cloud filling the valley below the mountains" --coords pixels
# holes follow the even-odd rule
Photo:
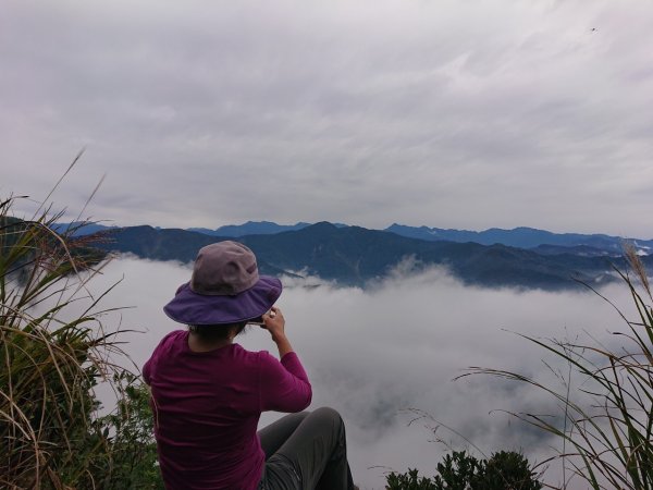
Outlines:
[[[104,306],[134,308],[123,310],[121,318],[107,316],[104,323],[112,328],[120,321],[122,328],[144,331],[123,336],[136,365],[143,365],[167,332],[180,328],[161,307],[189,274],[178,264],[123,258],[95,281],[94,290],[101,290],[123,278]],[[623,287],[609,286],[604,293],[628,305]],[[279,306],[313,384],[312,407],[330,405],[342,413],[355,479],[361,488],[377,490],[389,469],[417,467],[432,475],[447,444],[469,445],[455,432],[486,454],[521,449],[531,461],[551,455],[549,445],[557,441],[500,412],[553,413],[551,400],[488,377],[453,379],[469,366],[484,366],[551,380],[540,360],[545,358],[542,350],[516,333],[563,339],[587,330],[602,340],[621,327],[607,303],[584,291],[465,287],[440,269],[412,277],[397,273],[369,291],[288,282]],[[258,328],[238,342],[275,354],[269,335]],[[410,424],[422,413],[432,418]],[[266,414],[261,425],[276,417]],[[557,481],[555,471],[550,479]]]

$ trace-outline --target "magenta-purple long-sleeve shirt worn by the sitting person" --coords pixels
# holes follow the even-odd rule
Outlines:
[[[159,464],[169,490],[256,489],[264,454],[261,412],[299,412],[311,387],[294,352],[231,344],[197,353],[188,332],[163,338],[143,368],[152,390]]]

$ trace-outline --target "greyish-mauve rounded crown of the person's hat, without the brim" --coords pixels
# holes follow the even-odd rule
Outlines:
[[[190,289],[197,294],[230,296],[249,290],[258,280],[254,253],[242,243],[225,241],[200,248]]]

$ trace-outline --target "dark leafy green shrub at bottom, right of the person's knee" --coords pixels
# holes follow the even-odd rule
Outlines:
[[[454,451],[438,463],[438,475],[421,477],[417,469],[391,473],[386,490],[540,490],[542,483],[528,460],[516,452],[501,451],[489,460],[478,460],[465,451]]]

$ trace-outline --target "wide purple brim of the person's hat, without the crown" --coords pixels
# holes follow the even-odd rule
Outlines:
[[[185,324],[237,323],[267,313],[281,296],[282,289],[281,281],[270,275],[260,275],[255,285],[233,296],[198,294],[186,283],[163,311]]]

